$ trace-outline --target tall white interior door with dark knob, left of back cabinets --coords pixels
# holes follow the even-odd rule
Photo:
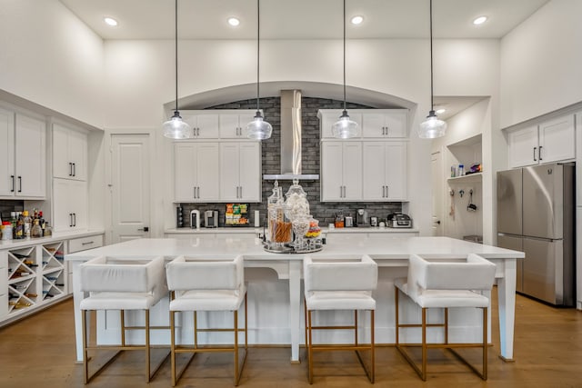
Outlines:
[[[148,134],[111,135],[113,244],[149,236]]]

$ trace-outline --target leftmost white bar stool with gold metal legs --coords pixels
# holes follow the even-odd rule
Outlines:
[[[89,293],[81,301],[81,322],[83,325],[83,365],[85,384],[105,366],[112,363],[121,351],[146,352],[146,381],[156,374],[166,357],[156,365],[151,373],[150,361],[150,329],[168,329],[167,326],[150,326],[149,310],[167,295],[166,278],[164,274],[164,258],[157,256],[153,259],[144,258],[115,258],[95,257],[80,265],[81,291]],[[118,345],[90,345],[87,339],[86,313],[97,310],[119,310],[121,341]],[[144,326],[126,326],[125,311],[143,310],[146,314]],[[145,330],[144,344],[128,344],[125,331]],[[89,376],[88,351],[116,350],[117,352],[104,363],[95,373]],[[169,354],[169,352],[168,352]]]

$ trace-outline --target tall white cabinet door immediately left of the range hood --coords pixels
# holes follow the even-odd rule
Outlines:
[[[261,146],[258,142],[240,144],[240,199],[261,202]]]

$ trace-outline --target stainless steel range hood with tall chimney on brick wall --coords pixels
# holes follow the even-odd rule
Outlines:
[[[301,91],[281,91],[281,174],[264,174],[266,180],[313,181],[318,174],[301,174]]]

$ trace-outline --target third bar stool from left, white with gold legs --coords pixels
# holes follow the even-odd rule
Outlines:
[[[304,258],[306,347],[309,383],[313,383],[313,353],[320,351],[353,350],[371,383],[374,383],[374,312],[376,301],[377,264],[367,255],[357,258]],[[314,312],[348,310],[354,312],[354,323],[348,325],[314,325]],[[358,341],[358,311],[370,312],[369,343]],[[314,344],[314,331],[353,330],[354,343]],[[366,365],[360,351],[369,351]]]

